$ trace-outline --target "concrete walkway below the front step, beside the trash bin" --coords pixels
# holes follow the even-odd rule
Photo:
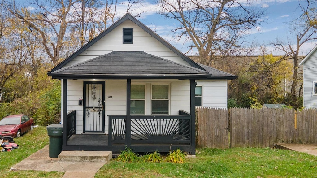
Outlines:
[[[110,152],[111,156],[111,152]],[[17,163],[10,170],[36,170],[65,172],[63,178],[93,178],[96,172],[107,161],[103,162],[74,162],[59,161],[59,158],[49,157],[49,145]]]

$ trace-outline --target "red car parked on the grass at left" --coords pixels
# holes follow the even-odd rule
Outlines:
[[[34,121],[24,114],[11,115],[0,121],[0,136],[21,137],[21,134],[33,130]]]

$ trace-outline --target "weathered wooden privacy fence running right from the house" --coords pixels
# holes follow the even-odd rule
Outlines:
[[[317,143],[317,110],[231,108],[228,114],[226,109],[199,107],[196,127],[197,147]]]

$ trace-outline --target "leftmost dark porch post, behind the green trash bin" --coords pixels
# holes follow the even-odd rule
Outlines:
[[[67,144],[67,79],[62,79],[62,90],[63,90],[63,105],[62,105],[62,116],[63,116],[63,144],[62,146],[66,146]]]

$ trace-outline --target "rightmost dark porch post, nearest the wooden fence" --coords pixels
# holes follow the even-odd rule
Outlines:
[[[191,155],[196,155],[196,126],[195,126],[195,79],[190,79],[191,93]]]

